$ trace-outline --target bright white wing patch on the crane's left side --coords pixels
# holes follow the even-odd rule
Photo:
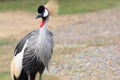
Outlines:
[[[25,42],[25,44],[24,44],[23,49],[21,50],[21,52],[19,52],[19,53],[13,58],[13,60],[15,61],[16,68],[17,68],[17,70],[18,70],[16,77],[19,77],[20,74],[21,74],[23,54],[24,54],[25,48],[27,47],[27,44],[28,44],[28,40],[26,40],[26,42]]]

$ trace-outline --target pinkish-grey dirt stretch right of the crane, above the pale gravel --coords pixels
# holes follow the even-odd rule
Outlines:
[[[93,40],[99,43],[104,39],[116,39],[120,35],[119,13],[120,9],[112,9],[76,15],[76,18],[72,18],[72,21],[76,20],[76,22],[58,27],[55,30],[56,42],[59,44],[74,44]]]

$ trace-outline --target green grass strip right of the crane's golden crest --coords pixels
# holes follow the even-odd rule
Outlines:
[[[87,13],[102,9],[113,8],[120,0],[60,0],[61,11],[64,14]]]

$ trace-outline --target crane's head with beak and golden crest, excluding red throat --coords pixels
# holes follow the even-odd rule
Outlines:
[[[36,18],[47,18],[50,16],[56,16],[58,14],[59,4],[57,0],[49,0],[49,2],[43,6],[38,7],[38,16]]]

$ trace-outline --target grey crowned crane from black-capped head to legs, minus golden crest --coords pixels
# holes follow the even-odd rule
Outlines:
[[[13,80],[35,80],[36,73],[39,73],[39,80],[42,80],[45,68],[49,70],[54,41],[53,33],[47,30],[47,26],[52,12],[43,5],[40,5],[37,11],[36,19],[42,18],[39,29],[23,37],[14,50],[11,61]]]

